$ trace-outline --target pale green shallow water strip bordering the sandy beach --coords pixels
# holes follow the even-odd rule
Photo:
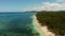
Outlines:
[[[37,19],[34,15],[34,19],[32,19],[32,25],[34,25],[34,32],[37,32],[39,36],[44,36],[43,32],[41,31],[41,29],[39,28],[39,25],[37,25]]]

